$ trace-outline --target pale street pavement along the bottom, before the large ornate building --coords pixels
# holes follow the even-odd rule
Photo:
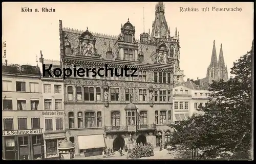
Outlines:
[[[97,155],[97,156],[91,156],[91,157],[80,157],[80,158],[75,158],[75,159],[101,159],[101,160],[111,160],[111,159],[127,159],[127,153],[124,153],[123,156],[119,156],[119,152],[115,152],[114,155],[104,157],[102,158],[102,155]],[[140,159],[174,159],[175,153],[169,152],[167,150],[162,150],[162,151],[154,151],[154,156],[151,157],[141,157]]]

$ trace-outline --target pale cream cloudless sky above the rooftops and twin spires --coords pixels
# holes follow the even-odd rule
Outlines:
[[[135,26],[135,38],[152,31],[157,3],[2,3],[3,36],[8,64],[36,65],[40,50],[45,59],[59,60],[59,19],[62,26],[78,30],[118,35],[121,24]],[[210,64],[215,40],[219,58],[222,43],[224,61],[228,68],[251,49],[253,40],[253,3],[177,3],[165,2],[165,18],[171,36],[180,32],[180,69],[186,78],[204,78]],[[22,12],[22,7],[33,9]],[[42,7],[55,12],[41,12]],[[198,12],[182,12],[182,8],[198,8]],[[202,8],[209,7],[209,12]],[[238,12],[216,12],[216,8],[241,8]],[[39,12],[34,12],[35,9]],[[143,23],[144,8],[144,23]],[[144,25],[143,25],[144,24]],[[38,60],[39,61],[39,60]],[[38,62],[40,65],[40,63]],[[230,73],[229,73],[230,76]]]

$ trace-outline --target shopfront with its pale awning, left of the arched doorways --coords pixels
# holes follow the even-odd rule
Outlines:
[[[102,155],[105,148],[103,134],[80,135],[78,138],[78,148],[81,157]]]

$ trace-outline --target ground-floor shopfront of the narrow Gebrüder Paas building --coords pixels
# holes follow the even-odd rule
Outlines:
[[[66,138],[65,131],[50,131],[45,132],[45,157],[46,158],[58,158],[58,146],[60,141]]]

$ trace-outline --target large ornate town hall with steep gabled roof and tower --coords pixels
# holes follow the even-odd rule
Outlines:
[[[176,30],[171,36],[162,2],[155,13],[152,33],[141,33],[139,40],[129,19],[118,36],[63,28],[59,20],[62,67],[96,68],[104,74],[100,68],[108,64],[118,75],[124,66],[138,69],[137,77],[94,77],[88,71],[63,81],[65,130],[76,155],[100,155],[104,147],[117,150],[141,142],[159,146],[170,140],[173,84],[183,81],[179,34]]]

